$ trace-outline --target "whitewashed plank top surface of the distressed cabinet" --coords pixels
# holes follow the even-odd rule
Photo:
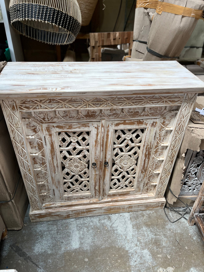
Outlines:
[[[0,99],[31,94],[204,91],[204,82],[177,61],[9,62],[0,74],[0,82]]]

